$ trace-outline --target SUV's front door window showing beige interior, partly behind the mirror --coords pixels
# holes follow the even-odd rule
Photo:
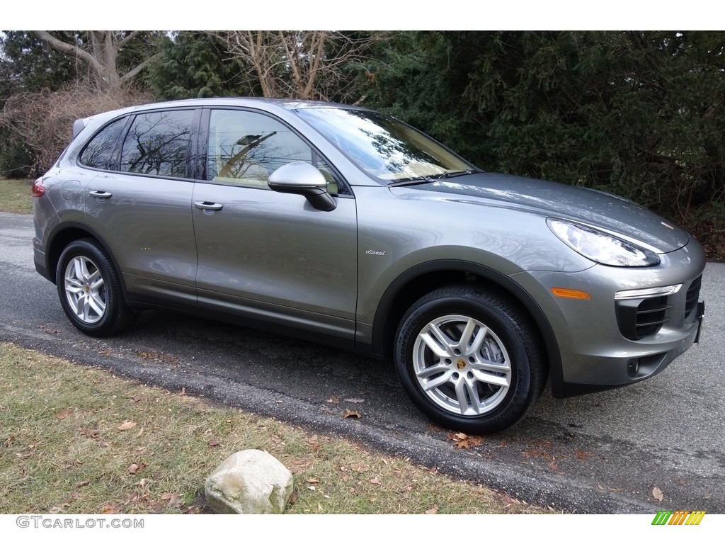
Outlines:
[[[320,168],[328,188],[337,192],[331,168],[323,170],[312,148],[287,125],[260,113],[212,110],[207,180],[266,187],[271,173],[295,161]]]

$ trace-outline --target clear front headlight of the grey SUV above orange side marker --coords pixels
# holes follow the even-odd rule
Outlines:
[[[568,247],[596,263],[610,266],[653,266],[660,263],[660,257],[650,250],[595,228],[553,218],[548,218],[547,224]]]

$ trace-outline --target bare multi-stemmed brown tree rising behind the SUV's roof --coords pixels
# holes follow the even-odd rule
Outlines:
[[[219,33],[231,58],[249,67],[268,97],[349,99],[349,68],[368,58],[379,34],[327,30],[234,30]]]

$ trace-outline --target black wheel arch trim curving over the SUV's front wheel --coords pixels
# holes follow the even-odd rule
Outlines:
[[[526,310],[544,342],[552,395],[563,395],[563,371],[558,340],[544,311],[537,302],[505,274],[479,263],[465,260],[436,260],[409,268],[400,274],[384,292],[373,321],[373,352],[392,358],[394,335],[403,315],[413,303],[428,292],[444,285],[473,281],[495,287]]]

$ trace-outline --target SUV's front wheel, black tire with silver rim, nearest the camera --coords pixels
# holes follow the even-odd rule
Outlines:
[[[544,347],[528,314],[504,294],[468,284],[415,302],[398,327],[394,353],[418,408],[471,434],[515,424],[547,379]]]

